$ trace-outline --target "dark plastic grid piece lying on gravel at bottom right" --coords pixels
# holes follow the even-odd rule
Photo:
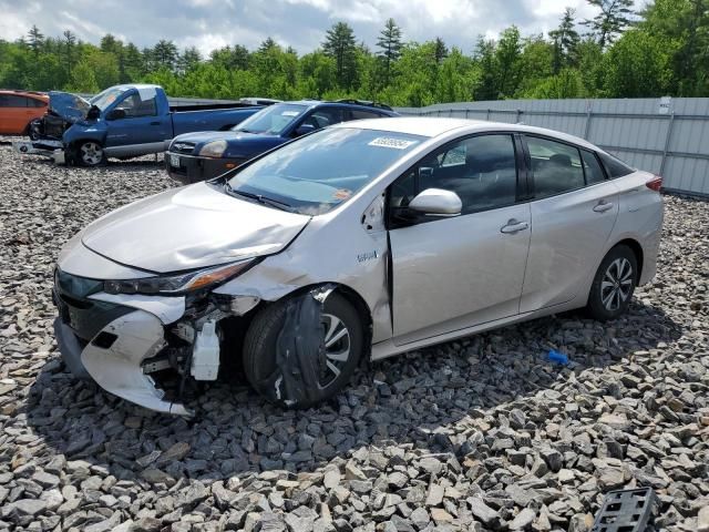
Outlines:
[[[606,493],[592,532],[649,532],[659,508],[653,488]]]

